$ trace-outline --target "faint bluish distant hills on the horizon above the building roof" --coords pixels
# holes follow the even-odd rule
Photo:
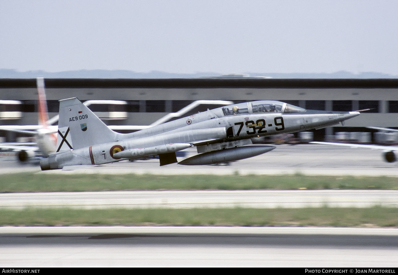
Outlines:
[[[242,73],[246,77],[271,77],[271,78],[398,78],[389,74],[377,72],[362,72],[353,74],[351,72],[339,71],[334,73]],[[200,72],[195,74],[173,74],[160,71],[151,71],[148,73],[137,73],[127,70],[76,70],[65,72],[45,72],[45,71],[28,71],[18,72],[13,69],[0,69],[0,78],[35,78],[43,76],[45,78],[197,78],[197,77],[220,77],[220,73]]]

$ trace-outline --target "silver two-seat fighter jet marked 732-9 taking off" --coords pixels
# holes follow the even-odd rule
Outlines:
[[[359,112],[306,110],[280,101],[253,101],[152,126],[130,134],[109,129],[76,97],[60,101],[57,152],[41,160],[42,170],[73,170],[159,155],[160,166],[177,163],[176,151],[196,146],[198,155],[181,165],[208,165],[254,157],[275,149],[252,145],[251,137],[328,127]]]

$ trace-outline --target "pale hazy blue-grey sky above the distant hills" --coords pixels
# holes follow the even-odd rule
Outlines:
[[[398,75],[398,1],[0,0],[0,68]]]

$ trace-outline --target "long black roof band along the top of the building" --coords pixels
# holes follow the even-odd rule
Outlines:
[[[398,79],[82,79],[47,78],[47,88],[398,88]],[[0,79],[0,88],[35,88],[36,79]]]

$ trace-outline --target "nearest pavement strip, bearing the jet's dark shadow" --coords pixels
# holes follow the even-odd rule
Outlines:
[[[397,229],[0,228],[2,267],[397,267]]]

